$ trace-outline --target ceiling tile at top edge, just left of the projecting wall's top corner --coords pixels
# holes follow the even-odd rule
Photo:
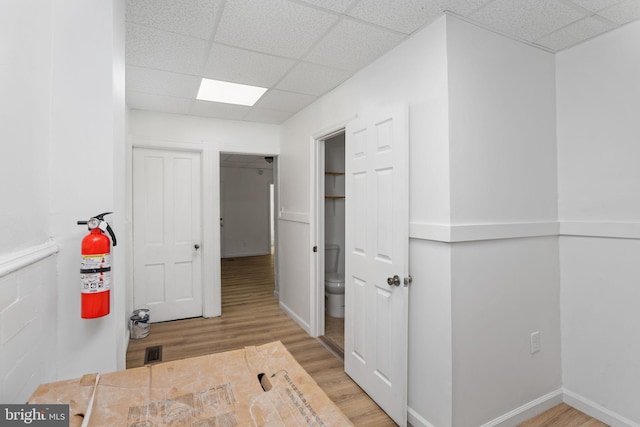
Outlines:
[[[432,0],[360,0],[349,15],[363,21],[411,34],[440,16],[442,10]]]

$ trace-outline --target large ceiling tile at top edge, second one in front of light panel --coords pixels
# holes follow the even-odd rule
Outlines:
[[[337,17],[286,0],[227,2],[214,40],[273,55],[299,58]]]

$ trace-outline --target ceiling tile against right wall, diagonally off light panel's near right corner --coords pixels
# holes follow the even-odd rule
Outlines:
[[[351,73],[322,65],[301,62],[277,84],[277,89],[322,95],[349,78]]]

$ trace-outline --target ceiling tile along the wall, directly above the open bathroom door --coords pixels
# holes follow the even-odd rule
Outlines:
[[[343,19],[305,57],[306,61],[356,71],[369,64],[405,36],[351,19]]]

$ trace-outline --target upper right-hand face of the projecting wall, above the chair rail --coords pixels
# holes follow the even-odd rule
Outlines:
[[[554,55],[451,19],[451,222],[554,222]]]

